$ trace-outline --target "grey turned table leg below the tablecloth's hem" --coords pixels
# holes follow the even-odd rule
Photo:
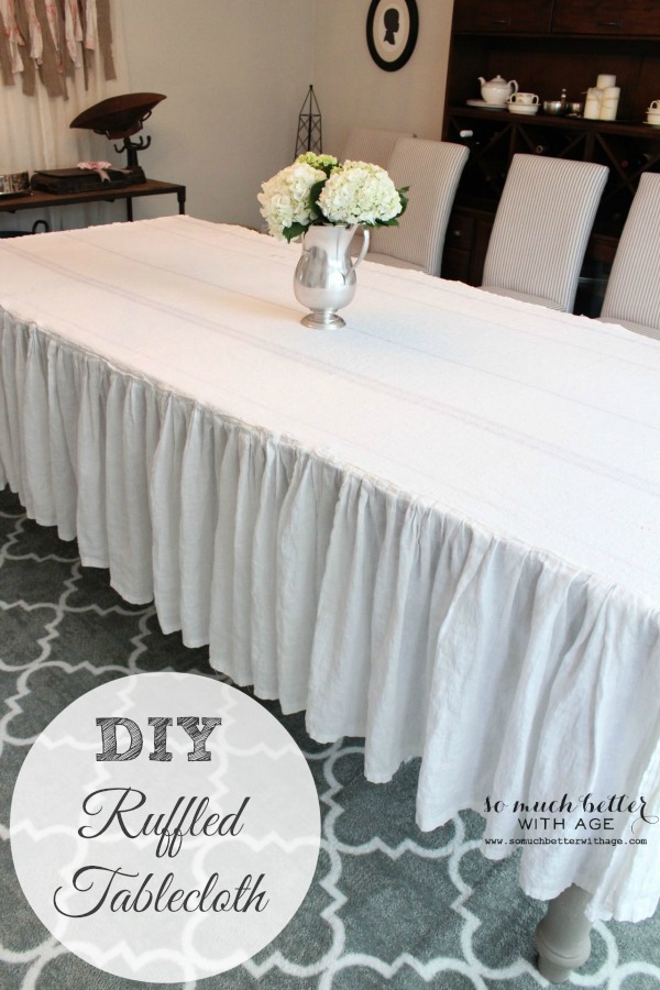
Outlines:
[[[539,971],[551,983],[561,983],[571,970],[591,955],[592,923],[584,913],[591,894],[581,887],[569,887],[550,901],[548,913],[536,930]]]

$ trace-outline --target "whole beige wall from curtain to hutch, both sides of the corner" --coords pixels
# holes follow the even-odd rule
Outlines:
[[[261,226],[256,194],[293,160],[310,82],[327,152],[341,152],[351,124],[440,136],[452,0],[418,0],[417,47],[396,73],[369,54],[369,0],[117,3],[130,91],[167,96],[145,125],[153,145],[140,163],[185,183],[193,216]],[[175,211],[174,197],[135,205],[139,217]]]

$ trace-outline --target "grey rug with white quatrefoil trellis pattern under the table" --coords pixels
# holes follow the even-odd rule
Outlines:
[[[35,917],[9,843],[13,783],[35,736],[103,681],[177,670],[213,675],[206,650],[164,636],[151,606],[127,605],[75,543],[0,493],[0,990],[537,990],[532,932],[546,905],[518,888],[517,862],[479,851],[481,817],[415,825],[418,766],[364,780],[360,739],[319,746],[282,717],[316,781],[322,815],[315,880],[293,921],[249,963],[189,983],[127,981],[69,953]],[[660,912],[596,924],[588,963],[561,986],[660,990]]]

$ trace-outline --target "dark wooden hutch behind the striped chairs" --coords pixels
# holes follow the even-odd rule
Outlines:
[[[516,79],[542,100],[584,101],[601,74],[620,87],[617,120],[535,117],[468,106],[481,98],[479,77]],[[640,174],[660,170],[660,129],[645,122],[660,99],[658,0],[455,0],[446,141],[466,144],[470,158],[450,219],[442,275],[481,283],[493,218],[516,152],[600,162],[609,178],[585,258],[586,293],[576,311],[597,312],[598,276],[612,264]],[[660,234],[659,234],[660,235]],[[595,277],[590,277],[595,276]]]

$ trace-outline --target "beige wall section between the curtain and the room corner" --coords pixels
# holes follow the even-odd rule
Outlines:
[[[190,215],[256,226],[260,184],[295,150],[314,51],[310,0],[118,2],[131,91],[167,97],[145,124],[153,145],[140,164],[185,183]],[[174,212],[169,199],[141,200],[135,212]]]

